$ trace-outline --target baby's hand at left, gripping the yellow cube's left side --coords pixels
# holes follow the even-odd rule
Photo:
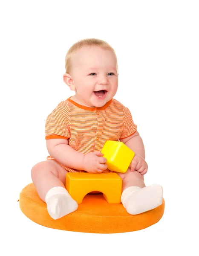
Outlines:
[[[84,170],[89,173],[100,173],[107,169],[107,159],[100,151],[90,152],[84,157]]]

